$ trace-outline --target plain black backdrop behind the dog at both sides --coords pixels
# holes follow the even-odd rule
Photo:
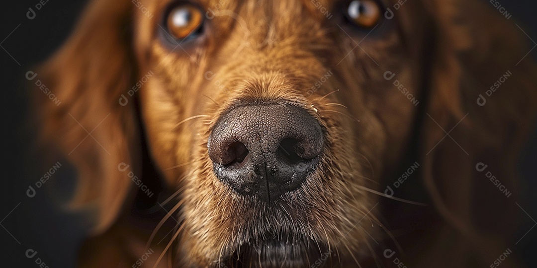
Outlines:
[[[27,98],[30,91],[38,88],[28,86],[25,73],[35,70],[35,64],[50,56],[67,38],[86,3],[80,0],[42,1],[48,2],[40,10],[34,8],[38,0],[9,1],[11,6],[4,1],[0,8],[0,40],[3,40],[0,43],[0,92],[3,92],[0,96],[0,266],[3,267],[39,267],[35,263],[37,258],[49,267],[75,266],[76,252],[84,234],[84,221],[80,217],[52,208],[57,200],[66,198],[58,189],[72,187],[69,178],[74,173],[65,161],[53,175],[54,180],[35,189],[35,197],[26,195],[28,186],[34,185],[44,173],[37,166],[40,155],[32,139],[32,121],[28,120],[31,107]],[[537,40],[537,1],[502,0],[500,3],[513,15],[511,20],[517,19],[526,33]],[[30,7],[36,13],[32,20],[26,17]],[[533,46],[529,38],[527,41]],[[537,49],[525,60],[535,58],[535,51]],[[517,201],[533,219],[537,219],[536,166],[537,138],[533,138],[520,161],[525,181],[521,183],[524,194]],[[517,237],[527,234],[511,248],[525,258],[529,267],[537,266],[537,228],[531,229],[534,225],[529,217],[522,222]],[[37,255],[27,258],[25,252],[28,249],[37,251]]]

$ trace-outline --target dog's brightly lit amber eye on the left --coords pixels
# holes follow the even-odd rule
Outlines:
[[[201,10],[190,4],[172,7],[166,17],[168,32],[178,40],[199,34],[203,22],[204,16]]]

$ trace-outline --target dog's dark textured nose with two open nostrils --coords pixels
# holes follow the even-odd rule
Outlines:
[[[214,173],[236,192],[270,202],[298,188],[323,150],[321,125],[287,104],[231,109],[208,140]]]

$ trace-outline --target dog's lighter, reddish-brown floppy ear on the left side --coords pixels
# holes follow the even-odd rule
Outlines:
[[[56,158],[76,167],[77,191],[69,204],[95,209],[94,234],[117,218],[139,160],[135,101],[126,94],[135,73],[129,4],[90,2],[67,42],[37,72],[57,99],[37,96],[41,138]]]

